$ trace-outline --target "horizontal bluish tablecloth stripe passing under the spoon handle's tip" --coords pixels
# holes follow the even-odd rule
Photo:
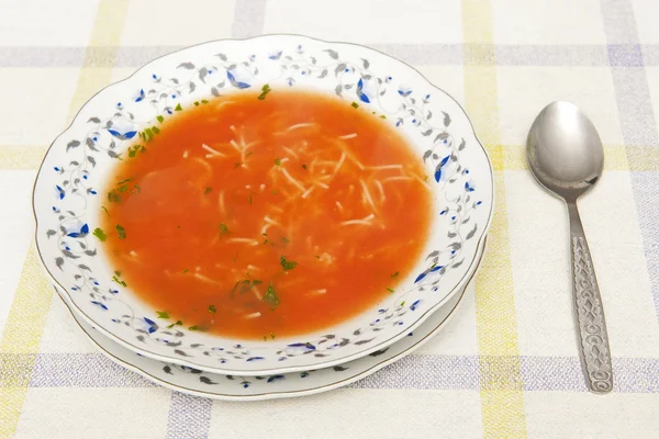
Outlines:
[[[412,354],[350,384],[350,387],[479,391],[481,360],[483,359],[477,356]],[[498,370],[498,363],[505,370],[505,364],[510,362],[505,357],[484,360],[493,371]],[[572,357],[521,357],[524,390],[529,392],[585,392],[580,368],[579,359]],[[614,358],[613,369],[616,378],[615,392],[659,393],[659,359]],[[40,353],[30,381],[31,387],[154,385],[101,353]],[[172,405],[175,403],[178,404],[178,399],[172,397]]]

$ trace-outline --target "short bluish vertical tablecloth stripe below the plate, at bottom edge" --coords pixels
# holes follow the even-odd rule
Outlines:
[[[171,393],[167,417],[167,439],[205,439],[211,427],[212,399]]]

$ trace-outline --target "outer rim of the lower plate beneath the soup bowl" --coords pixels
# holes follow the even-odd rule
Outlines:
[[[479,247],[479,256],[478,256],[478,267],[481,267],[481,262],[482,259],[484,257],[484,254],[487,251],[487,239],[483,241],[483,244]],[[233,402],[233,403],[238,403],[238,402],[253,402],[253,401],[268,401],[268,399],[284,399],[284,398],[293,398],[293,397],[302,397],[302,396],[310,396],[310,395],[316,395],[320,393],[325,393],[325,392],[331,392],[340,387],[344,387],[346,385],[349,385],[356,381],[362,380],[369,375],[372,375],[373,373],[378,372],[379,370],[386,368],[389,364],[392,364],[401,359],[403,359],[404,357],[407,357],[409,354],[411,354],[412,352],[414,352],[416,349],[421,348],[423,345],[425,345],[427,341],[429,341],[433,337],[435,337],[439,331],[442,331],[442,329],[444,329],[444,327],[446,326],[446,324],[454,317],[456,311],[458,309],[458,307],[460,306],[460,304],[462,303],[462,300],[465,299],[465,294],[467,294],[467,289],[469,288],[469,285],[471,284],[471,282],[474,280],[476,274],[478,272],[477,271],[469,278],[467,284],[461,289],[460,292],[460,297],[458,299],[458,301],[456,302],[455,306],[450,309],[450,312],[446,315],[446,317],[444,317],[444,319],[442,319],[442,322],[439,322],[437,324],[437,326],[435,326],[431,331],[428,331],[425,336],[423,336],[421,339],[418,339],[414,345],[410,346],[407,349],[393,354],[389,358],[384,358],[382,359],[380,362],[371,365],[370,368],[353,375],[349,378],[345,378],[343,380],[339,381],[334,381],[331,384],[325,384],[325,385],[321,385],[321,386],[316,386],[316,387],[311,387],[311,389],[305,389],[305,390],[300,390],[300,391],[288,391],[288,392],[271,392],[271,393],[259,393],[259,394],[255,394],[255,395],[226,395],[226,394],[220,394],[220,393],[210,393],[210,392],[203,392],[203,391],[196,391],[192,389],[188,389],[188,387],[183,387],[183,386],[179,386],[176,384],[172,384],[170,382],[164,381],[157,376],[154,376],[153,374],[150,374],[149,372],[144,371],[143,369],[141,369],[139,367],[122,360],[121,358],[114,356],[113,353],[109,352],[108,350],[105,350],[105,348],[103,348],[91,335],[89,335],[89,333],[87,331],[87,329],[85,329],[82,327],[82,325],[80,325],[80,322],[78,322],[78,319],[76,318],[76,313],[75,311],[71,308],[71,305],[67,302],[66,299],[64,299],[59,292],[59,290],[57,289],[57,286],[53,285],[53,289],[55,290],[55,294],[57,294],[57,296],[59,297],[59,300],[64,303],[66,309],[69,312],[69,314],[71,315],[74,323],[80,328],[80,330],[85,334],[85,338],[94,346],[96,350],[98,350],[103,357],[108,358],[110,361],[114,362],[115,364],[119,364],[134,373],[137,373],[138,375],[143,376],[145,380],[148,380],[157,385],[160,385],[163,387],[169,389],[171,391],[176,391],[176,392],[181,392],[188,395],[192,395],[192,396],[198,396],[198,397],[205,397],[209,399],[216,399],[216,401],[226,401],[226,402]],[[455,296],[455,295],[454,295]],[[79,318],[82,318],[80,316],[78,316]],[[98,330],[98,328],[96,328]],[[101,337],[108,338],[105,337],[101,331],[99,331]],[[110,342],[112,342],[113,340],[108,338],[108,340]],[[400,341],[400,340],[399,340]],[[393,345],[393,344],[392,344]],[[391,345],[390,345],[391,346]],[[156,360],[153,358],[147,358],[149,361],[159,361],[163,362],[160,360]],[[347,362],[347,361],[346,361]],[[324,369],[324,368],[322,368]],[[317,369],[316,369],[317,370]],[[294,373],[294,372],[291,372]],[[219,373],[221,374],[221,373]]]

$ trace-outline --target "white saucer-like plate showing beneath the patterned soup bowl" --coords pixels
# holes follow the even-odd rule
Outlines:
[[[483,244],[479,252],[479,263],[484,252]],[[474,273],[476,274],[476,273]],[[96,330],[89,323],[72,312],[66,295],[59,296],[67,305],[76,323],[89,337],[90,341],[110,360],[145,376],[155,383],[171,390],[225,401],[259,401],[313,395],[343,387],[361,380],[392,362],[412,353],[442,330],[456,314],[459,303],[465,296],[466,286],[446,301],[445,305],[433,313],[421,326],[407,337],[395,344],[371,352],[366,357],[348,361],[331,368],[313,371],[269,374],[263,376],[224,375],[204,372],[186,365],[167,363],[139,356],[123,346],[113,342]]]

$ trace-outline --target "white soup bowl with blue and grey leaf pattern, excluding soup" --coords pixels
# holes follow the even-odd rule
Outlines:
[[[432,203],[421,256],[401,274],[394,292],[322,330],[247,340],[176,325],[116,279],[93,233],[103,221],[112,170],[135,154],[135,140],[153,135],[177,111],[214,97],[295,89],[377,114],[406,139],[427,175]],[[478,267],[492,218],[493,176],[465,111],[410,66],[354,44],[267,35],[186,48],[101,90],[51,146],[33,209],[47,273],[74,311],[99,331],[160,361],[259,375],[355,360],[418,327]]]

